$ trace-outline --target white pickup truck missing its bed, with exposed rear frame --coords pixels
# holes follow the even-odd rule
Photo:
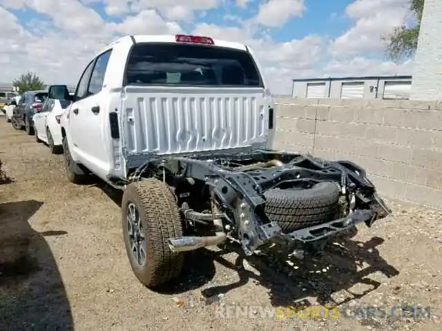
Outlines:
[[[68,179],[93,173],[124,190],[124,242],[148,287],[177,277],[188,250],[313,247],[391,212],[358,165],[271,150],[273,101],[243,44],[123,37],[88,63],[73,97],[66,86],[49,97],[72,101],[61,116]]]

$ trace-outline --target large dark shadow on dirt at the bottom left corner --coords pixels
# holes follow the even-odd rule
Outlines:
[[[0,204],[0,330],[73,330],[64,283],[45,235],[28,219],[43,203]]]

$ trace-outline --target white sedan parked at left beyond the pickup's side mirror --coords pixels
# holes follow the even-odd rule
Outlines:
[[[35,139],[47,143],[52,154],[63,152],[60,117],[68,108],[70,101],[46,99],[39,112],[32,117]]]

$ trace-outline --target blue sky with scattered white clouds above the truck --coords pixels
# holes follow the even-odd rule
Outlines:
[[[75,83],[90,57],[121,35],[186,32],[249,44],[280,93],[294,78],[410,74],[412,59],[393,63],[381,40],[410,21],[408,2],[0,0],[0,37],[10,38],[0,68],[6,79],[24,63],[47,80]],[[28,50],[13,47],[17,36]]]

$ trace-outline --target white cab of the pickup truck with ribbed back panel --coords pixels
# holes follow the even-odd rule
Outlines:
[[[91,59],[73,96],[66,91],[52,86],[59,99],[73,101],[61,118],[70,157],[108,182],[153,155],[269,148],[273,141],[269,88],[253,51],[240,43],[122,37]]]

